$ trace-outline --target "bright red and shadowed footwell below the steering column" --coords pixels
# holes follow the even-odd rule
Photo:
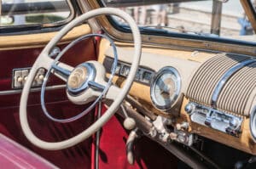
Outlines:
[[[103,111],[106,107],[103,108]],[[135,144],[135,164],[126,160],[125,143],[128,133],[122,127],[119,115],[113,117],[102,128],[99,168],[100,169],[154,169],[177,168],[177,157],[147,137],[137,140]],[[92,145],[91,169],[94,169],[94,149]]]

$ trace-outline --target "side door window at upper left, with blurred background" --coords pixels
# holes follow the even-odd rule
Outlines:
[[[2,0],[1,14],[2,28],[58,25],[72,17],[67,1],[63,0]]]

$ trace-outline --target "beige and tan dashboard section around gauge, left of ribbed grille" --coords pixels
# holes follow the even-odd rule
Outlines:
[[[119,61],[125,63],[131,63],[132,60],[132,48],[127,44],[116,44],[118,47]],[[140,66],[148,67],[151,70],[157,72],[165,66],[172,66],[177,69],[182,79],[181,93],[178,96],[178,101],[174,103],[173,109],[167,111],[160,111],[154,108],[150,99],[150,87],[138,82],[134,82],[130,94],[135,98],[143,101],[143,104],[147,106],[147,109],[152,110],[156,114],[169,115],[167,112],[175,111],[177,114],[183,98],[183,93],[187,90],[188,82],[194,71],[201,65],[205,59],[212,57],[215,54],[205,54],[205,57],[199,52],[195,51],[181,51],[177,49],[166,48],[152,48],[150,46],[143,47],[143,54],[140,62]],[[113,57],[113,49],[109,47],[109,43],[102,40],[99,58],[98,60],[103,63],[105,57]],[[116,84],[121,87],[125,82],[124,77],[116,76]]]

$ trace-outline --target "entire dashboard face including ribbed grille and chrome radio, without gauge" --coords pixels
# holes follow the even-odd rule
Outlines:
[[[108,45],[101,47],[105,53],[100,52],[99,60],[104,63],[109,57],[113,58],[113,54]],[[181,92],[170,110],[155,107],[150,98],[150,87],[143,83],[134,82],[131,96],[155,115],[176,116],[177,123],[189,122],[190,133],[256,155],[249,127],[249,115],[256,103],[255,59],[241,54],[196,53],[199,54],[190,50],[144,46],[140,66],[150,67],[154,72],[172,66],[180,74]],[[118,54],[120,62],[131,63],[131,46],[119,43]],[[121,87],[125,82],[124,76],[115,76],[115,82]],[[249,84],[248,87],[245,84]],[[214,105],[212,99],[215,100],[216,94],[218,97]],[[189,103],[196,105],[196,109],[192,106],[194,115],[186,111]],[[201,112],[201,108],[208,113],[198,116],[196,113]]]

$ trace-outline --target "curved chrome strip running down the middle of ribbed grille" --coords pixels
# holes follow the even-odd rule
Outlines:
[[[213,94],[212,94],[211,105],[213,108],[217,107],[218,96],[221,93],[226,82],[228,82],[228,80],[230,79],[230,77],[233,76],[238,70],[241,70],[241,68],[243,68],[244,66],[253,64],[254,62],[256,62],[256,59],[253,59],[253,58],[243,60],[240,63],[231,67],[230,70],[227,70],[224,73],[224,75],[218,81],[217,87],[215,87]]]

